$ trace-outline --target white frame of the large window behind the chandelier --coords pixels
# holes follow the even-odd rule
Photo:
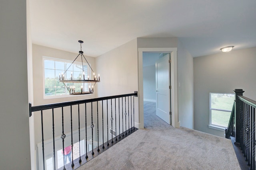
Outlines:
[[[66,97],[74,97],[73,95],[69,95],[69,94],[64,94],[64,95],[58,95],[58,96],[46,96],[45,95],[45,77],[44,77],[44,60],[51,60],[51,61],[59,61],[59,62],[63,62],[63,63],[72,63],[73,61],[70,61],[70,60],[65,60],[65,59],[58,59],[58,58],[53,58],[53,57],[46,57],[46,56],[43,56],[42,57],[42,60],[43,60],[43,98],[44,99],[51,99],[51,98],[66,98]],[[73,64],[80,64],[82,65],[82,62],[77,62],[77,61],[74,61]],[[87,63],[83,63],[84,65],[88,65]],[[55,70],[55,68],[54,68]],[[63,71],[64,72],[64,71]],[[88,65],[88,68],[87,68],[87,72],[88,72],[88,75],[89,75],[89,78],[91,78],[91,70],[90,70],[90,64]],[[91,84],[89,83],[88,86],[91,86]],[[65,87],[66,89],[66,87]],[[67,89],[66,89],[67,90]]]

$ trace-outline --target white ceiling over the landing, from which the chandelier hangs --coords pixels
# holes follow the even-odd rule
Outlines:
[[[136,37],[179,37],[193,57],[256,47],[256,0],[30,0],[32,43],[97,57]]]

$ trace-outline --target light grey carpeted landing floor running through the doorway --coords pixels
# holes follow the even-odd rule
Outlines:
[[[139,129],[78,170],[240,170],[231,140],[184,127],[174,128],[144,102]]]

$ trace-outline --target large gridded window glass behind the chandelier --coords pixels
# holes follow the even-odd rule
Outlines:
[[[74,62],[61,59],[55,59],[50,57],[43,57],[44,64],[44,97],[51,98],[52,96],[67,95],[69,91],[65,88],[64,84],[59,81],[59,76],[65,72],[64,77],[68,77],[73,72],[74,79],[79,79],[84,76],[90,75],[89,66],[87,63]],[[72,64],[72,65],[71,65]],[[66,83],[66,86],[75,86],[76,89],[80,89],[83,86],[88,90],[88,83]]]

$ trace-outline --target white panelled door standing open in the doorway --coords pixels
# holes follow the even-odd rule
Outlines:
[[[156,115],[171,125],[170,54],[156,61]]]

